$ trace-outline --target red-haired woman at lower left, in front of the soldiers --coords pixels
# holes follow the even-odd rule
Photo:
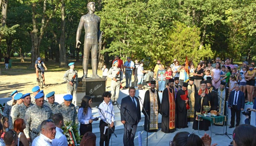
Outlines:
[[[13,123],[13,126],[14,126],[14,131],[18,133],[19,146],[29,146],[27,137],[24,134],[24,129],[26,128],[26,124],[24,120],[20,118],[16,119]]]

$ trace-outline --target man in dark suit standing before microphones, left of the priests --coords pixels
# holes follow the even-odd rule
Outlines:
[[[137,130],[137,125],[141,119],[140,111],[140,101],[135,97],[135,88],[129,88],[129,96],[125,97],[121,101],[121,122],[124,124],[124,134],[123,134],[123,145],[124,146],[134,146],[134,137]],[[133,128],[127,124],[127,121]]]

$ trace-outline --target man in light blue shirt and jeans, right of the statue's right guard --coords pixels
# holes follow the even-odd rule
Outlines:
[[[132,74],[134,69],[134,62],[130,57],[127,57],[127,61],[124,63],[126,86],[125,88],[132,87]]]

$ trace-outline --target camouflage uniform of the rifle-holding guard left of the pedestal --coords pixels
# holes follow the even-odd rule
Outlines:
[[[76,78],[73,82],[73,86],[71,86],[69,84],[69,81],[72,80],[74,75],[76,75]],[[69,69],[68,71],[65,72],[63,79],[64,79],[64,81],[66,81],[68,83],[68,85],[67,85],[68,94],[73,95],[73,98],[76,99],[76,90],[77,90],[77,85],[78,85],[77,71],[75,69],[73,69],[73,71],[71,71],[71,69]]]

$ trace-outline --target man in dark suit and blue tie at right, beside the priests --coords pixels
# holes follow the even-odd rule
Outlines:
[[[240,124],[240,113],[242,110],[244,110],[244,93],[242,91],[239,91],[240,87],[239,85],[235,86],[235,91],[231,91],[229,95],[229,104],[232,106],[231,109],[231,121],[229,128],[233,128],[235,125],[235,115],[236,115],[236,126],[239,126]]]

